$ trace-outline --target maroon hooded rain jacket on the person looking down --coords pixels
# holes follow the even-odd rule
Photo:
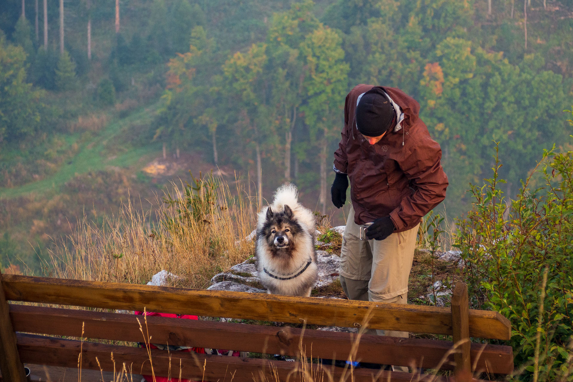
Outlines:
[[[371,145],[356,128],[356,100],[382,88],[405,114],[402,129]],[[414,228],[446,197],[448,177],[439,163],[442,149],[419,119],[420,105],[397,88],[357,85],[346,96],[344,129],[334,153],[336,170],[348,174],[358,225],[390,215],[395,232]]]

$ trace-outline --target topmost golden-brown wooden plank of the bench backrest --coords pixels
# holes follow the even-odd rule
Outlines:
[[[151,285],[9,275],[3,283],[14,301],[94,308],[189,313],[317,325],[359,326],[415,333],[452,334],[448,308],[376,304],[314,297],[277,296]],[[472,337],[509,339],[509,321],[497,312],[470,310]],[[365,320],[368,320],[367,322]]]

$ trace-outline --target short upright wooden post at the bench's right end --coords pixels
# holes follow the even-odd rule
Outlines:
[[[457,282],[454,286],[452,332],[454,345],[458,346],[458,351],[454,354],[456,382],[470,382],[472,380],[472,364],[470,363],[469,300],[468,286],[465,282]]]

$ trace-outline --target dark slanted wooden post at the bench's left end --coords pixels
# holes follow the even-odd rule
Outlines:
[[[10,321],[10,309],[2,287],[0,272],[0,371],[5,381],[26,382],[24,365],[20,361],[16,346],[16,333]]]

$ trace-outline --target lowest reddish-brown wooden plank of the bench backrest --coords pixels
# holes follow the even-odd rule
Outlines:
[[[261,359],[245,359],[239,357],[207,356],[195,353],[166,352],[151,349],[151,362],[148,358],[147,349],[130,348],[127,346],[115,346],[95,344],[74,340],[61,340],[30,334],[18,334],[18,350],[23,360],[34,360],[36,364],[52,366],[69,366],[77,364],[78,355],[82,354],[81,369],[113,371],[126,365],[134,374],[151,374],[151,364],[155,375],[190,378],[195,380],[233,380],[233,382],[252,382],[253,380],[291,380],[300,381],[300,371],[303,364],[299,362],[270,361]],[[111,360],[113,353],[113,362]],[[97,361],[96,361],[97,357]],[[98,363],[99,362],[99,363]],[[115,364],[114,364],[115,363]],[[304,368],[313,375],[320,376],[323,371],[317,364],[306,364]],[[340,380],[343,368],[325,367],[334,380]],[[316,374],[315,374],[316,373]],[[348,374],[348,373],[347,373]],[[394,381],[411,382],[412,380],[432,382],[448,382],[447,377],[424,376],[418,379],[410,373],[374,371],[370,369],[355,369],[352,377],[356,382],[371,381]],[[326,375],[324,375],[326,377]],[[276,378],[276,379],[275,379]],[[316,378],[315,380],[319,380]]]

